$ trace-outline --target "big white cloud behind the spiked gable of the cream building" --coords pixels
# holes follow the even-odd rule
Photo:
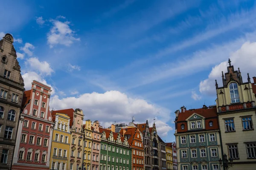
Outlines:
[[[250,76],[253,77],[256,75],[255,65],[256,65],[256,42],[245,42],[239,50],[233,52],[230,55],[231,64],[234,65],[234,69],[238,70],[240,68],[243,81],[247,82],[247,73],[250,73]],[[222,87],[221,71],[224,73],[227,72],[228,66],[228,57],[225,61],[215,65],[212,68],[207,79],[200,82],[199,91],[202,94],[216,95],[215,90],[215,79],[217,79],[218,86]]]

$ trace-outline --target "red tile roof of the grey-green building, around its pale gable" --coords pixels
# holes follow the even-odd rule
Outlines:
[[[200,109],[195,109],[195,110],[188,110],[185,112],[180,112],[177,122],[180,121],[186,121],[187,118],[189,118],[189,116],[191,116],[192,114],[197,113],[201,116],[204,116],[205,118],[211,118],[211,117],[217,117],[217,108],[213,107],[213,108],[200,108]]]

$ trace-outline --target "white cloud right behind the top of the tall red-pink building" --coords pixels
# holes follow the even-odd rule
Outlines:
[[[25,84],[24,87],[26,88],[26,90],[30,90],[31,86],[32,86],[31,83],[33,82],[33,80],[36,80],[38,82],[41,82],[41,83],[51,87],[51,90],[52,90],[51,94],[52,95],[55,93],[55,89],[52,87],[52,85],[49,85],[42,76],[38,75],[34,71],[28,71],[28,72],[22,74],[22,78],[24,79],[24,84]]]

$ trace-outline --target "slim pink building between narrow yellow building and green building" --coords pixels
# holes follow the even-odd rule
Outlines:
[[[100,153],[100,138],[101,133],[99,132],[99,121],[94,121],[93,126],[93,145],[92,145],[92,159],[91,167],[92,170],[99,170],[99,153]]]

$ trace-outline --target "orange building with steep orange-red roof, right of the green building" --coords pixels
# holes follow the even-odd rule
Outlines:
[[[144,147],[142,133],[138,127],[129,127],[126,129],[124,136],[127,137],[128,143],[132,148],[132,170],[143,170]]]

